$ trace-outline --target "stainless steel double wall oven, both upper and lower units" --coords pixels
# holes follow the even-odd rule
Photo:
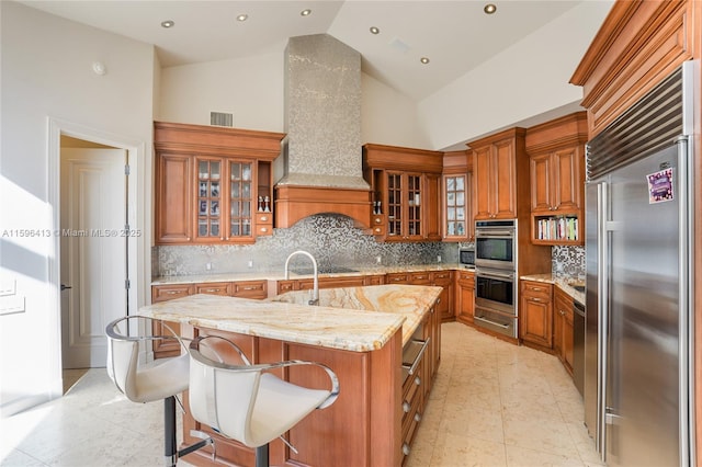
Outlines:
[[[517,220],[475,223],[476,326],[517,338]]]

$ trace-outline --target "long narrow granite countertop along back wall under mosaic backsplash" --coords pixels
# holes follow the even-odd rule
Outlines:
[[[453,271],[465,270],[458,263],[439,263],[439,264],[416,264],[403,266],[372,266],[359,267],[358,271],[338,272],[338,273],[319,273],[319,277],[353,277],[358,275],[384,275],[404,272],[422,272],[422,271]],[[298,274],[291,270],[290,278],[312,278],[312,273]],[[285,273],[282,271],[263,271],[263,272],[246,272],[246,273],[222,273],[222,274],[194,274],[194,275],[172,275],[160,276],[151,280],[151,285],[172,285],[172,284],[200,284],[210,282],[233,282],[233,281],[283,281]]]

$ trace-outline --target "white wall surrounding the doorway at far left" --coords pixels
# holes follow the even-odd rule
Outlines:
[[[127,141],[140,158],[136,228],[144,238],[136,280],[140,293],[148,292],[154,47],[10,1],[0,2],[0,265],[3,281],[16,283],[25,298],[24,312],[0,316],[4,417],[60,394],[58,206],[49,204],[58,178],[49,164],[49,117],[61,127]],[[93,73],[93,60],[103,61],[107,73]],[[38,236],[18,237],[20,230]]]

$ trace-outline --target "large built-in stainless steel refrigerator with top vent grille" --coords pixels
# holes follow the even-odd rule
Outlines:
[[[585,422],[610,466],[694,460],[686,62],[587,145]]]

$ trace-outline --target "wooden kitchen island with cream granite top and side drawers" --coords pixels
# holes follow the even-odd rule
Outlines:
[[[378,285],[326,291],[320,291],[325,306],[299,305],[304,300],[297,293],[267,301],[193,295],[140,312],[179,322],[186,338],[225,337],[252,363],[305,360],[337,373],[341,391],[335,405],[313,412],[287,433],[297,454],[279,440],[271,443],[271,464],[399,466],[439,363],[440,321],[434,306],[441,288]],[[417,361],[404,362],[418,343],[423,348],[414,353]],[[218,350],[229,352],[226,346]],[[326,374],[315,367],[291,367],[278,375],[304,386],[328,385]],[[190,430],[211,433],[217,455],[213,460],[211,453],[201,451],[189,455],[189,463],[253,465],[252,449],[212,433],[185,413],[185,443],[196,441]]]

